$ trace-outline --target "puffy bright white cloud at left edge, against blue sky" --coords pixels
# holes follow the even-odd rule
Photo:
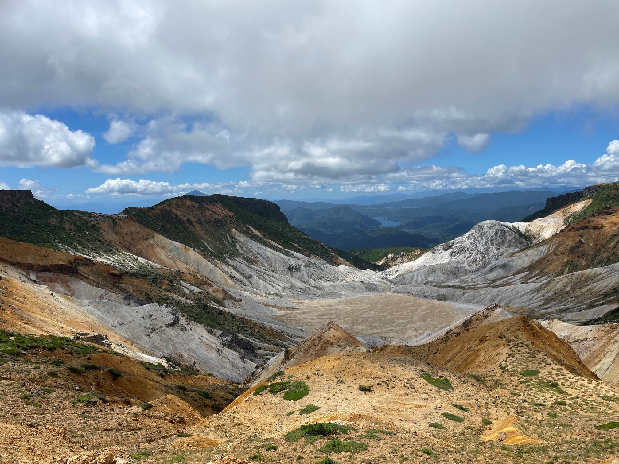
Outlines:
[[[95,138],[63,122],[24,111],[0,111],[0,166],[94,166]]]

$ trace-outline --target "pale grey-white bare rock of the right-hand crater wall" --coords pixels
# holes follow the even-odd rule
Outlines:
[[[483,221],[383,275],[396,293],[481,306],[499,303],[510,312],[531,317],[592,319],[612,309],[602,297],[619,285],[618,264],[560,276],[527,269],[559,246],[543,240],[561,231],[566,218],[590,201],[568,205],[530,223]],[[540,244],[529,247],[535,243]]]

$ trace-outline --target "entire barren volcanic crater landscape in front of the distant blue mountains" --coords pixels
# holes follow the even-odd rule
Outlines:
[[[618,192],[354,253],[266,200],[1,190],[0,463],[616,463]]]

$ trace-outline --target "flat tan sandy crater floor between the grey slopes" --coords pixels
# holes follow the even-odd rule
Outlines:
[[[332,320],[355,335],[376,335],[396,343],[436,332],[480,309],[399,293],[366,293],[295,304],[297,307],[280,308],[277,318],[309,332]]]

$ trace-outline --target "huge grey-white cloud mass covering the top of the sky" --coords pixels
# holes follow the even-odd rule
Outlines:
[[[404,180],[404,166],[430,160],[449,134],[482,150],[487,134],[532,116],[619,103],[613,0],[64,6],[4,6],[0,41],[12,46],[0,62],[11,72],[0,101],[123,114],[111,144],[135,133],[132,117],[154,118],[126,159],[93,167],[110,176],[208,163],[251,166],[256,183],[373,185]],[[69,151],[80,155],[2,158],[67,167],[90,157]]]

